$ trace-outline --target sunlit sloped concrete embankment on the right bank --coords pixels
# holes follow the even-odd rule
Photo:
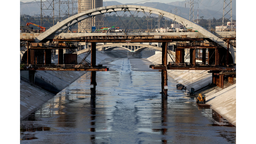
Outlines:
[[[148,58],[153,64],[162,64],[162,53]],[[168,62],[172,59],[168,57]],[[199,90],[212,83],[212,74],[203,70],[168,70],[168,76],[184,85],[190,93],[191,88]],[[236,126],[236,84],[218,92],[212,90],[206,95],[206,104]]]

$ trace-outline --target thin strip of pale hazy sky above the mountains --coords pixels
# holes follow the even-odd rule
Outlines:
[[[31,2],[33,0],[20,0],[21,2]],[[37,0],[37,1],[40,1],[40,0]],[[46,1],[46,0],[43,0],[43,1]],[[117,2],[120,2],[120,3],[137,3],[137,2],[142,2],[142,3],[145,3],[145,2],[162,2],[162,3],[170,3],[170,2],[175,2],[175,1],[184,1],[184,0],[129,0],[128,2],[125,1],[125,0],[103,0],[103,1],[117,1]]]

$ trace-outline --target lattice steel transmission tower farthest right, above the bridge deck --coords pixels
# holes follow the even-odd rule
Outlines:
[[[229,15],[229,18],[226,18],[226,15]],[[224,0],[223,6],[223,17],[222,17],[222,26],[223,28],[225,22],[230,22],[230,28],[233,28],[233,20],[232,20],[232,0]]]

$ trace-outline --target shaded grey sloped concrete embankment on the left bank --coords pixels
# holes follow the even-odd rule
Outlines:
[[[78,55],[77,61],[80,62],[85,54]],[[57,60],[57,56],[56,60]],[[96,52],[96,64],[102,60],[110,58],[102,52]],[[87,57],[91,61],[90,55]],[[57,63],[57,62],[55,62]],[[37,75],[49,80],[59,91],[63,90],[79,77],[84,75],[86,71],[37,71]],[[54,94],[43,90],[42,88],[28,83],[26,80],[20,80],[20,120],[27,117],[38,107],[51,99]]]

